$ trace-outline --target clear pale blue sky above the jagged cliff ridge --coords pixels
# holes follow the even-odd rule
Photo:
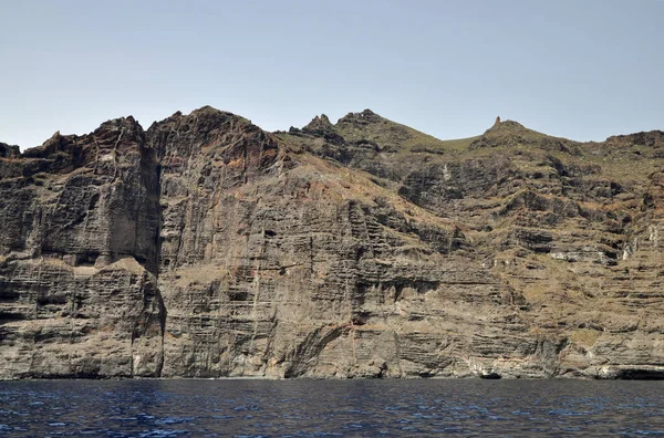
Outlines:
[[[364,108],[443,139],[664,129],[663,22],[664,0],[0,0],[0,142],[204,105],[267,131]]]

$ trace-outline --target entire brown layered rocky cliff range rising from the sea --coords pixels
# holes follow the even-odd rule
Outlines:
[[[664,377],[664,133],[203,107],[0,144],[0,377]]]

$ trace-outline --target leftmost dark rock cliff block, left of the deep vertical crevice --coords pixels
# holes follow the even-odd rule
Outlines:
[[[0,376],[156,376],[158,173],[131,117],[0,160]]]

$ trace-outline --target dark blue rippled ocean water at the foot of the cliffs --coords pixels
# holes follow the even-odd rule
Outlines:
[[[2,435],[664,436],[664,382],[1,382]]]

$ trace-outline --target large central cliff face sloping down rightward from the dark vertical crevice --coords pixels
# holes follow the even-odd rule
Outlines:
[[[165,376],[467,374],[455,326],[513,322],[498,279],[455,254],[453,222],[365,176],[210,108],[148,137],[164,154]]]

